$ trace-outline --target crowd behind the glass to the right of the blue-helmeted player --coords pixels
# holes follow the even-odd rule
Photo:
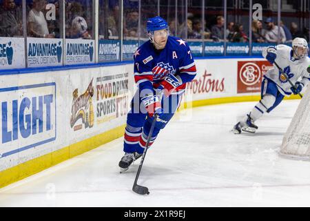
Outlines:
[[[173,22],[175,23],[175,21]],[[203,30],[200,19],[187,19],[187,39],[202,39],[204,36],[207,41],[224,41],[224,32],[226,32],[226,40],[229,42],[249,42],[249,32],[245,32],[242,24],[229,21],[227,29],[224,30],[224,23],[224,17],[218,16],[216,23],[211,26],[211,30],[207,26]],[[185,38],[186,31],[183,27],[184,25],[180,25],[179,35]],[[280,35],[278,32],[279,26],[271,17],[264,21],[254,20],[251,23],[251,37],[252,42],[255,43],[277,43],[280,38],[280,43],[284,44],[291,42],[296,37],[302,37],[309,41],[309,28],[300,30],[295,22],[291,22],[291,26],[288,28],[281,21]]]

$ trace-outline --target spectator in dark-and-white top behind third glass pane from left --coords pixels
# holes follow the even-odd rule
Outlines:
[[[81,3],[72,2],[70,10],[73,17],[70,28],[70,38],[91,39],[92,37],[87,31],[87,22],[81,16],[83,14],[83,8],[81,6]]]

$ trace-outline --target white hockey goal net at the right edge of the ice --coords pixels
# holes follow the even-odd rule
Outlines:
[[[304,93],[283,137],[280,155],[298,160],[310,160],[310,86]]]

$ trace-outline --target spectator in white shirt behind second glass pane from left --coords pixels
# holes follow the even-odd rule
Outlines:
[[[28,36],[53,38],[48,31],[48,23],[45,20],[42,10],[44,10],[44,0],[33,0],[32,10],[28,15]]]

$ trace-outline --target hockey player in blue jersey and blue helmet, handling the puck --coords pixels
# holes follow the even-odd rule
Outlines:
[[[141,157],[154,114],[158,114],[149,146],[176,112],[186,83],[196,76],[196,66],[186,41],[169,36],[161,17],[147,20],[149,41],[134,53],[134,80],[138,90],[127,115],[125,155],[118,166],[126,171]]]

